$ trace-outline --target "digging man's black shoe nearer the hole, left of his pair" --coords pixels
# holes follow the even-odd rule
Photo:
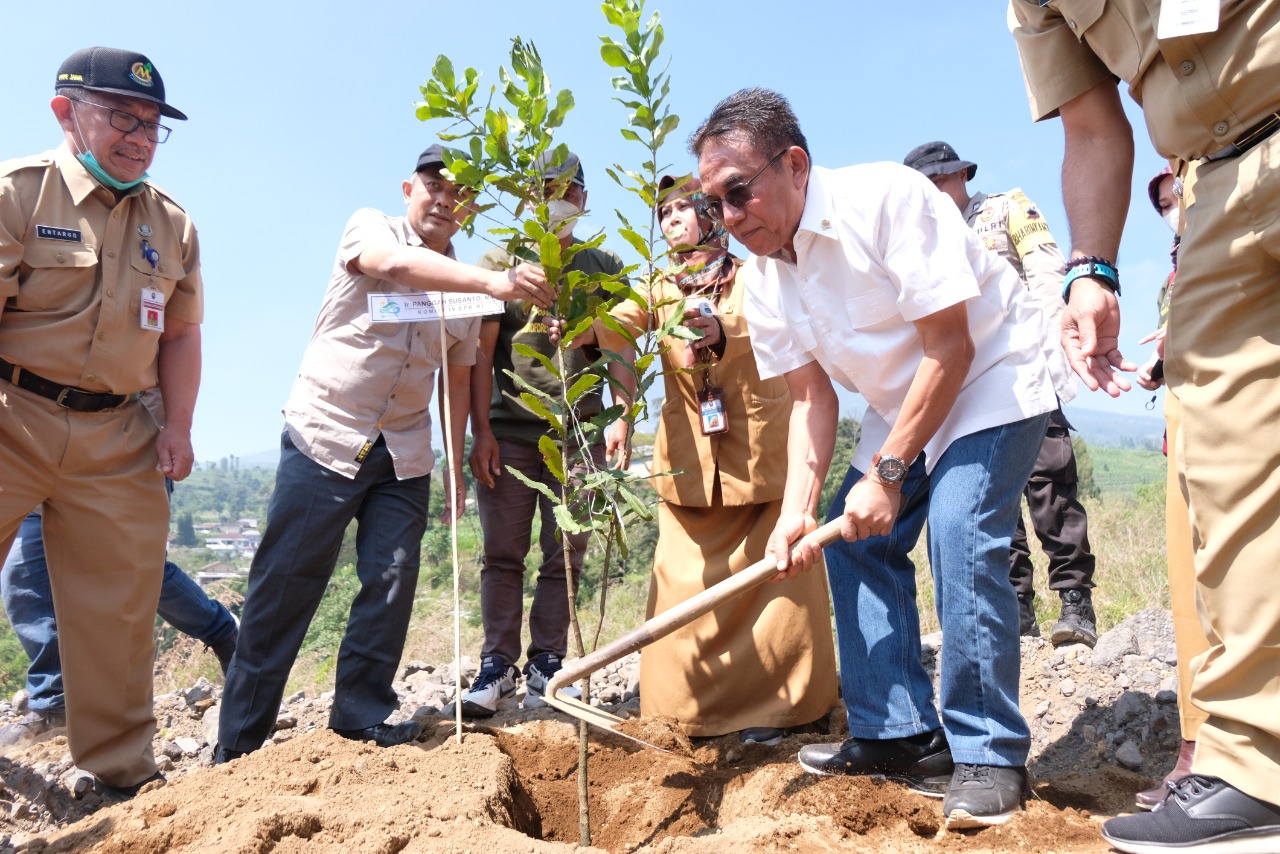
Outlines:
[[[941,798],[951,782],[951,748],[942,730],[905,739],[849,739],[844,744],[810,744],[800,749],[800,767],[809,773],[863,775],[901,782],[911,791]]]

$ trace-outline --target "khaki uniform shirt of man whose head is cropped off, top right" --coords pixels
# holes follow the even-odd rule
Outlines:
[[[1280,0],[1225,3],[1216,32],[1157,41],[1151,0],[1010,0],[1032,118],[1120,77],[1156,150],[1196,160],[1280,108]]]

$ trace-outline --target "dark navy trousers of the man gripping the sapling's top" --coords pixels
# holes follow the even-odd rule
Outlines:
[[[360,593],[338,650],[329,726],[360,730],[397,707],[392,681],[404,652],[430,478],[396,479],[381,438],[355,479],[280,439],[268,526],[250,568],[239,644],[227,672],[218,741],[256,750],[275,723],[289,670],[333,576],[355,519]]]

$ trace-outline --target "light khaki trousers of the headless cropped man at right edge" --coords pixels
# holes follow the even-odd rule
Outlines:
[[[1208,649],[1197,773],[1280,793],[1280,134],[1198,170],[1165,367]]]

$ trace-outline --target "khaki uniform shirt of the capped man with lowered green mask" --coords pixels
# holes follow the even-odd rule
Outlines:
[[[165,320],[202,320],[196,228],[163,189],[116,201],[65,143],[0,164],[0,356],[90,392],[151,388],[160,333],[142,328],[143,288],[164,293]]]

